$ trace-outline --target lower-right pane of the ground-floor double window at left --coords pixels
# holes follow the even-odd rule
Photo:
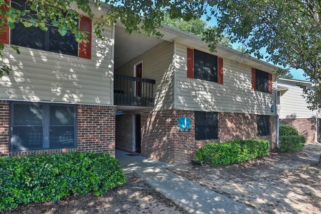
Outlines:
[[[50,126],[49,146],[50,148],[74,147],[74,126]]]

